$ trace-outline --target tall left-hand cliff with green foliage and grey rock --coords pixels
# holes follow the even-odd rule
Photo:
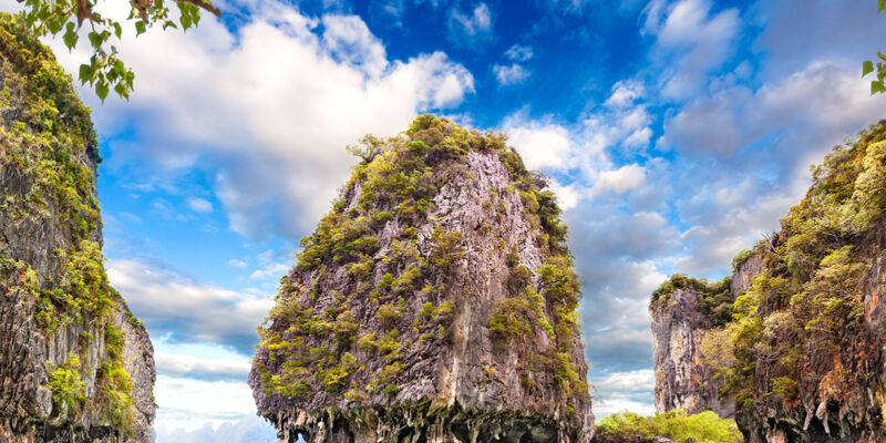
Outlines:
[[[150,442],[153,348],[109,286],[90,112],[0,16],[0,441]]]

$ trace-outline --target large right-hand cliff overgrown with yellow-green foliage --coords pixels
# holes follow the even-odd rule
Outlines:
[[[886,440],[886,122],[837,146],[705,340],[746,441]],[[735,279],[733,277],[733,284]]]

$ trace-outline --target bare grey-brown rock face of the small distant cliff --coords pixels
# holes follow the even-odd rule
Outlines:
[[[650,306],[659,414],[678,409],[690,415],[707,410],[722,418],[735,414],[734,399],[720,399],[722,377],[715,378],[704,360],[702,340],[713,321],[699,310],[701,297],[696,288],[678,288]]]

